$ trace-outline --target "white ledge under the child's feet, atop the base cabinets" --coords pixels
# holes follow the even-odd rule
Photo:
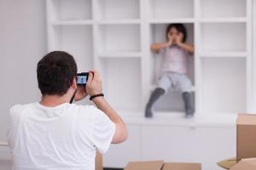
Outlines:
[[[127,125],[177,126],[177,127],[236,127],[236,114],[229,112],[212,115],[195,113],[191,119],[184,118],[184,112],[154,111],[153,118],[145,118],[143,111],[118,111]]]

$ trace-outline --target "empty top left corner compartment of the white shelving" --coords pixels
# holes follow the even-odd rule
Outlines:
[[[91,0],[49,0],[48,7],[51,21],[92,19]]]

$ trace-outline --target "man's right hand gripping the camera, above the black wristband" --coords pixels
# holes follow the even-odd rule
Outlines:
[[[86,92],[90,96],[102,94],[102,79],[98,71],[89,71],[88,81],[86,82]]]

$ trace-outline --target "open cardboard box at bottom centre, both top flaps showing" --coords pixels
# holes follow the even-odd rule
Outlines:
[[[133,161],[125,170],[201,170],[200,163],[172,163],[164,161]]]

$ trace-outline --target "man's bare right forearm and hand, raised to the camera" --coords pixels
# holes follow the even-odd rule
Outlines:
[[[102,80],[97,71],[90,71],[88,81],[86,82],[86,92],[90,96],[95,94],[102,94]],[[128,138],[128,132],[125,127],[125,123],[113,108],[108,104],[106,99],[96,97],[92,99],[96,107],[104,112],[109,119],[115,124],[115,133],[113,135],[112,143],[118,144],[124,142]]]

